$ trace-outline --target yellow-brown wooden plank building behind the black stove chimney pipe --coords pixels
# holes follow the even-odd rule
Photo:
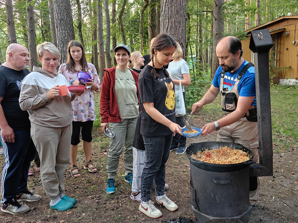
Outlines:
[[[275,20],[248,29],[242,40],[243,58],[254,63],[249,49],[251,31],[269,29],[273,47],[269,53],[271,78],[274,83],[298,83],[298,16],[281,16]],[[297,32],[296,32],[297,31]]]

